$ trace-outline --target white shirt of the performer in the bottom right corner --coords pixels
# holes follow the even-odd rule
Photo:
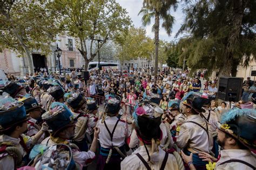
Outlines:
[[[220,159],[217,162],[215,169],[216,170],[224,170],[224,169],[242,169],[242,170],[251,170],[249,166],[242,164],[240,162],[230,162],[223,165],[220,165],[222,162],[225,162],[227,160],[231,159],[239,159],[242,161],[247,162],[248,164],[251,164],[252,166],[256,167],[256,157],[250,150],[244,150],[244,149],[226,149],[220,151]]]

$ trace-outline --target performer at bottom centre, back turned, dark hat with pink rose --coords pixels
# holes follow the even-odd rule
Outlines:
[[[121,162],[121,169],[184,169],[180,155],[176,157],[159,147],[163,138],[159,106],[140,103],[135,112],[134,129],[139,138],[139,148]]]

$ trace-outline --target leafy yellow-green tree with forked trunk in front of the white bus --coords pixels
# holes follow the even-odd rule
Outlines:
[[[85,60],[84,70],[88,70],[89,62],[107,39],[122,40],[120,35],[131,24],[126,10],[115,0],[56,0],[49,9],[60,16],[59,21],[65,33],[77,38],[78,50]],[[95,36],[103,40],[97,50],[93,50]],[[89,38],[92,40],[87,44]]]

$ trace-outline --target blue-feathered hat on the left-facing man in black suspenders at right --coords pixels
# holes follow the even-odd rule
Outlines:
[[[207,103],[208,98],[207,96],[204,96],[202,93],[198,92],[188,92],[186,96],[184,96],[180,103],[193,108],[196,112],[205,112],[205,110],[202,108],[205,103]]]

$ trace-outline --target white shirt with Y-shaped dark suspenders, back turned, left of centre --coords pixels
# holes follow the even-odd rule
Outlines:
[[[107,127],[109,128],[110,132],[113,131],[114,125],[116,124],[118,118],[117,117],[106,117],[105,122]],[[121,147],[125,144],[125,138],[129,136],[129,130],[126,127],[126,124],[122,121],[119,121],[116,127],[116,130],[114,130],[113,134],[113,141],[111,145],[111,138],[109,132],[107,132],[106,127],[104,123],[102,123],[102,120],[98,120],[97,127],[100,129],[99,132],[99,142],[100,146],[104,148],[109,148],[112,145]]]

